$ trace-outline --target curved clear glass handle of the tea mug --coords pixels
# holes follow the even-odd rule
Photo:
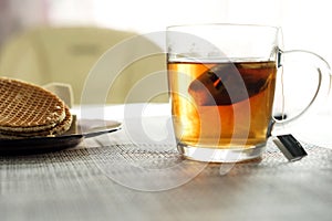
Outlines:
[[[268,136],[271,136],[273,130],[283,128],[286,125],[302,117],[303,114],[308,112],[308,109],[310,109],[314,104],[318,103],[318,101],[326,98],[330,94],[330,90],[332,85],[332,75],[331,75],[330,65],[322,56],[305,50],[291,50],[291,51],[278,50],[278,51],[279,51],[278,67],[283,66],[283,62],[287,60],[293,60],[293,61],[301,60],[302,62],[308,61],[313,63],[317,70],[319,81],[318,81],[317,91],[314,92],[312,99],[309,102],[307,107],[304,107],[298,115],[286,119],[277,119],[272,117]]]

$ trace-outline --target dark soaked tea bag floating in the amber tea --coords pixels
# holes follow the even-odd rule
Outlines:
[[[247,74],[247,69],[238,67],[234,63],[212,66],[190,83],[188,93],[200,106],[230,105],[266,88],[267,78]]]

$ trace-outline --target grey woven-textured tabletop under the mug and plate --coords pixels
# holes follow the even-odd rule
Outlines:
[[[153,108],[145,126],[128,112],[122,130],[75,148],[0,156],[0,220],[331,220],[331,146],[302,141],[295,162],[271,141],[246,164],[190,161],[164,130],[167,109]]]

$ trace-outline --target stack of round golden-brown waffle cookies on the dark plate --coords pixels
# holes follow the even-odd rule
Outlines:
[[[0,138],[58,136],[70,129],[69,107],[51,92],[0,77]]]

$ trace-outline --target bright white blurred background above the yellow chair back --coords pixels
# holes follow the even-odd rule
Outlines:
[[[0,45],[39,25],[96,25],[146,33],[204,22],[282,27],[287,49],[314,51],[332,62],[326,0],[0,0]]]

